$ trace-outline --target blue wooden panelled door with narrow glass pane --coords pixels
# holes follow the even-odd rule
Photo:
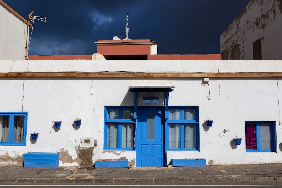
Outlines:
[[[138,108],[136,166],[164,166],[164,109]]]

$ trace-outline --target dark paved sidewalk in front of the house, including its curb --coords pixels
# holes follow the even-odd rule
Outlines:
[[[56,169],[0,166],[1,183],[274,183],[282,164]]]

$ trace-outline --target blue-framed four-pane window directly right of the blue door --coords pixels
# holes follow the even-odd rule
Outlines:
[[[199,107],[168,107],[166,150],[199,150]]]

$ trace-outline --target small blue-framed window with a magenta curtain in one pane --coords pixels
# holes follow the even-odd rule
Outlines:
[[[246,121],[246,152],[276,152],[275,123]]]

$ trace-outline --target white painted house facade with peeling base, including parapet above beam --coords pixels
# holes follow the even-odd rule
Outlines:
[[[20,66],[15,61],[12,71],[24,71],[26,65]],[[44,60],[22,61],[29,62],[29,71],[65,70],[74,71],[80,65],[79,70],[111,70],[113,65],[121,70],[131,69],[147,70],[147,62],[152,65],[164,65],[170,67],[166,71],[175,71],[191,65],[191,70],[199,72],[213,72],[220,70],[238,70],[253,72],[258,66],[262,71],[281,71],[281,61],[238,61],[244,63],[244,67],[236,66],[230,61],[121,61],[121,60]],[[93,65],[88,64],[92,62]],[[127,67],[128,62],[132,67]],[[146,63],[144,63],[146,62]],[[230,62],[231,66],[227,66]],[[1,71],[10,71],[13,61],[0,61]],[[96,64],[97,63],[97,64]],[[120,65],[121,63],[122,65]],[[44,64],[44,66],[43,66]],[[69,66],[71,64],[71,66]],[[125,64],[125,65],[124,65]],[[272,66],[276,67],[273,68]],[[97,67],[96,67],[97,65]],[[103,66],[102,66],[103,65]],[[193,65],[193,66],[192,66]],[[25,67],[24,67],[25,66]],[[55,67],[54,67],[55,66]],[[157,68],[158,67],[158,68]],[[162,71],[162,66],[155,70]],[[118,69],[118,68],[117,68]],[[153,68],[154,69],[154,68]],[[155,71],[154,70],[154,71]],[[189,71],[191,71],[189,70]],[[94,148],[93,161],[96,159],[118,159],[126,157],[129,161],[135,159],[135,151],[103,151],[104,136],[104,106],[133,106],[133,94],[128,91],[129,86],[175,86],[169,95],[169,106],[199,106],[200,115],[200,151],[168,151],[167,163],[172,158],[205,158],[209,164],[247,164],[247,163],[281,163],[282,131],[279,126],[278,104],[282,104],[282,81],[275,78],[210,78],[211,100],[207,99],[208,86],[201,85],[201,78],[3,78],[0,77],[1,101],[0,112],[21,112],[21,102],[24,102],[23,111],[28,112],[27,142],[26,146],[0,146],[1,156],[8,154],[16,158],[27,152],[58,152],[67,151],[71,158],[78,158],[77,148],[81,137],[93,137],[97,140]],[[92,86],[92,91],[91,91]],[[279,90],[278,90],[279,87]],[[219,89],[220,88],[220,89]],[[91,96],[91,92],[94,93]],[[280,101],[278,102],[278,93]],[[89,96],[90,95],[90,96]],[[139,96],[142,97],[142,96]],[[160,93],[163,105],[164,95]],[[139,101],[142,101],[141,98]],[[142,104],[140,105],[152,105]],[[213,126],[203,126],[207,117],[214,120]],[[81,118],[81,127],[75,129],[73,120]],[[52,121],[62,121],[58,132],[53,129]],[[274,121],[276,122],[277,152],[256,153],[245,152],[245,121]],[[225,136],[220,133],[229,130]],[[36,143],[31,142],[30,133],[39,132]],[[242,144],[233,148],[235,135],[242,138]],[[60,158],[60,165],[78,165],[78,162],[66,163]],[[10,164],[1,162],[0,164]]]

